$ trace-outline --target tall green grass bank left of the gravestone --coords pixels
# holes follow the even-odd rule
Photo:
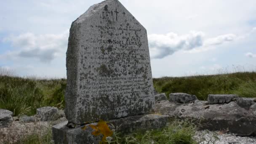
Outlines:
[[[66,80],[32,80],[0,76],[0,108],[17,115],[34,115],[44,106],[64,107]]]

